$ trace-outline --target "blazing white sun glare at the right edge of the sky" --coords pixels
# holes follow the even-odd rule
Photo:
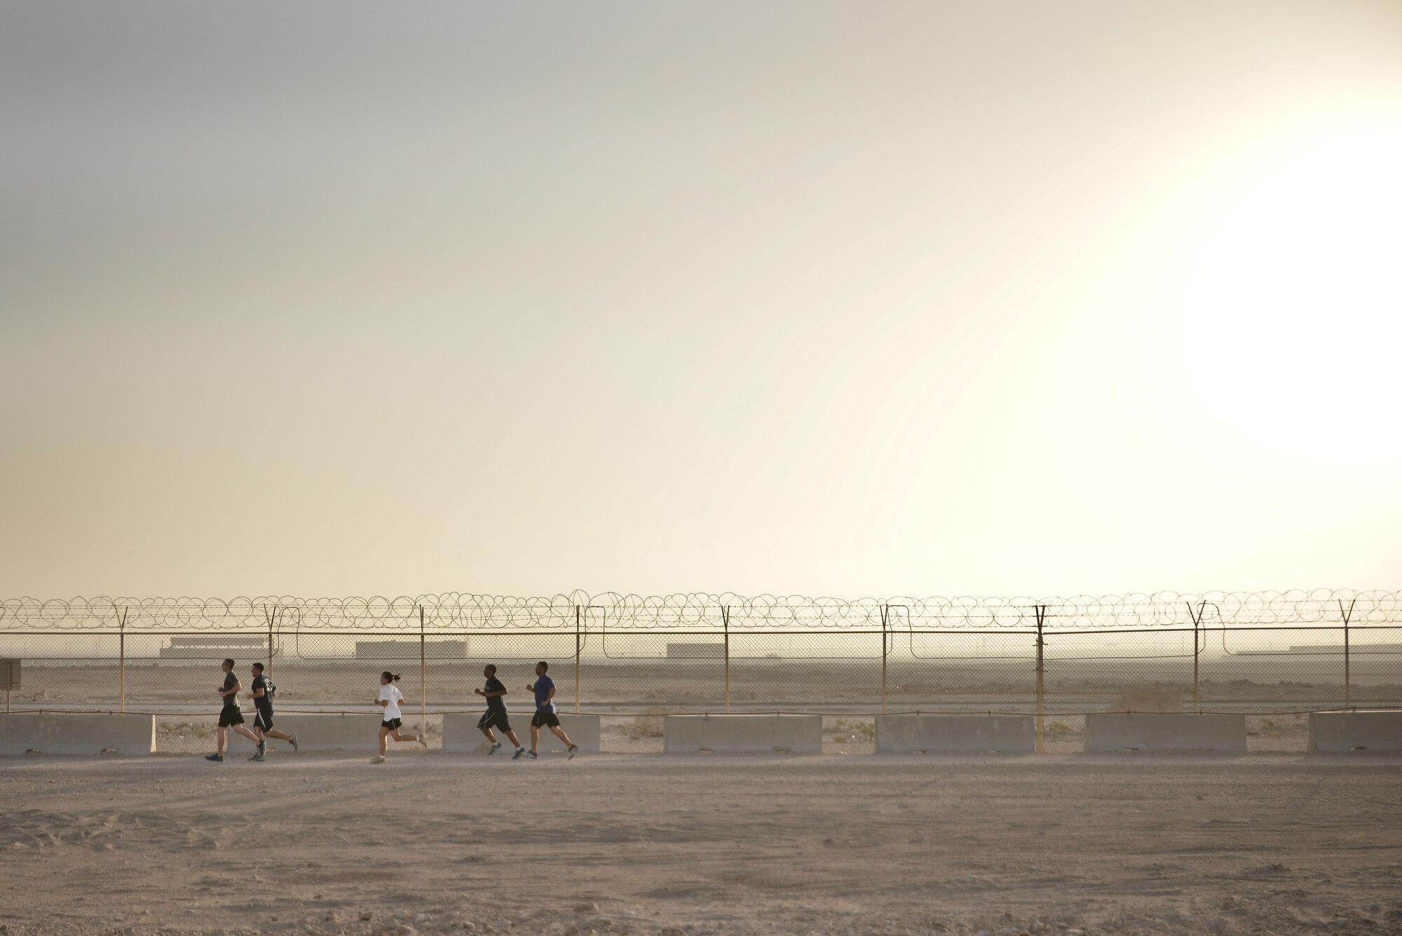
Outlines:
[[[1402,454],[1402,123],[1277,160],[1225,206],[1189,280],[1193,378],[1231,430],[1371,474]]]

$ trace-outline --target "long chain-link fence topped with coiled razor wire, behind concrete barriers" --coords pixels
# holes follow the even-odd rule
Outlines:
[[[373,712],[383,670],[439,738],[496,664],[513,712],[547,660],[562,712],[606,750],[660,750],[670,712],[813,712],[827,747],[871,750],[882,712],[1037,717],[1080,750],[1094,712],[1239,712],[1253,750],[1304,750],[1307,713],[1402,708],[1395,591],[1080,598],[587,596],[0,601],[6,708],[158,716],[163,750],[205,744],[226,657],[264,661],[283,712]]]

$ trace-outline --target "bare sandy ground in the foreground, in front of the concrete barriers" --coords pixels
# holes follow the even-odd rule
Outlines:
[[[0,759],[6,933],[1402,933],[1402,758]]]

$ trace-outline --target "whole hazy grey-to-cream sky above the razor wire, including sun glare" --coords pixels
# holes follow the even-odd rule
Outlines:
[[[6,3],[0,597],[1402,586],[1402,3]]]

